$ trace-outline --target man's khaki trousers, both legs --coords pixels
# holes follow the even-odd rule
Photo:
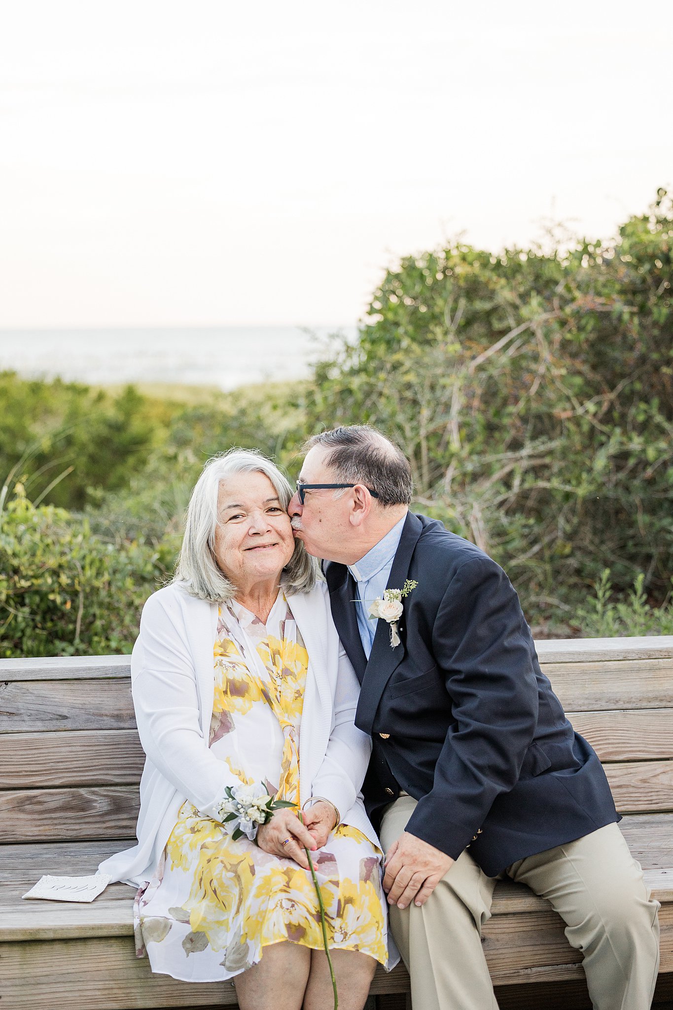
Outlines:
[[[385,851],[415,806],[403,794],[385,811]],[[616,824],[520,860],[506,873],[547,898],[565,921],[569,942],[584,954],[594,1010],[649,1010],[659,969],[659,902]],[[495,884],[466,850],[425,905],[390,906],[415,1010],[497,1010],[481,949]]]

